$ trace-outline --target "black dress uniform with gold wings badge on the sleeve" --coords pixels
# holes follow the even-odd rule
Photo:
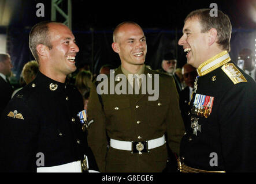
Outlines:
[[[86,128],[77,116],[82,110],[83,98],[75,87],[39,72],[3,112],[0,170],[36,172],[49,167],[43,171],[51,172],[53,166],[72,162],[76,162],[73,170],[71,164],[71,169],[57,171],[98,170],[87,145]]]

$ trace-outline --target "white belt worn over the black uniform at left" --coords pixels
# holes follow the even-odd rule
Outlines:
[[[71,163],[62,164],[60,166],[52,167],[38,167],[37,173],[81,173],[82,170],[86,171],[88,169],[88,159],[85,156],[83,162],[76,161]]]

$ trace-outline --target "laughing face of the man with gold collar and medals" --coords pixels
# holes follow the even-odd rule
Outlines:
[[[187,63],[198,68],[201,63],[205,62],[207,57],[207,32],[201,33],[201,23],[198,18],[189,18],[185,21],[183,27],[183,36],[179,40],[179,45],[183,46],[186,52]]]

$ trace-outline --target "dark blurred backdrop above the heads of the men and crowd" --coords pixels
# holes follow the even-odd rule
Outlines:
[[[256,53],[256,0],[233,1],[89,1],[72,0],[72,31],[80,52],[76,57],[78,68],[89,66],[98,74],[103,64],[118,67],[120,60],[112,50],[112,34],[123,21],[135,21],[142,26],[147,39],[146,64],[152,69],[161,67],[162,56],[172,52],[177,67],[186,63],[182,47],[177,41],[182,34],[184,18],[190,11],[209,8],[217,3],[218,9],[228,14],[232,23],[231,59],[236,62],[243,48]],[[43,3],[44,17],[37,17],[36,5]],[[68,0],[58,5],[68,11]],[[64,18],[57,15],[57,21]],[[51,20],[50,0],[0,0],[0,52],[8,52],[13,62],[13,74],[18,79],[25,63],[34,59],[28,48],[28,34],[33,25]]]

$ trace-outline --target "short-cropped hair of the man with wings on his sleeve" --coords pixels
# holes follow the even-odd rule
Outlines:
[[[29,32],[29,48],[32,55],[35,57],[36,61],[39,62],[38,53],[36,51],[36,46],[39,44],[46,45],[49,49],[53,48],[51,45],[51,37],[49,34],[49,26],[51,22],[55,21],[43,21],[34,25]],[[59,22],[55,22],[59,23]]]

